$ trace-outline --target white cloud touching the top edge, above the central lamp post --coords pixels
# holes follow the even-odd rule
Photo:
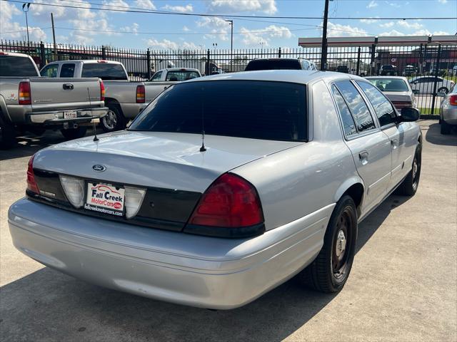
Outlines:
[[[208,9],[222,13],[255,11],[275,14],[278,11],[275,0],[211,0]]]

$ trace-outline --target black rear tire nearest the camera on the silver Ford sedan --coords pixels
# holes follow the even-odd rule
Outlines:
[[[333,209],[321,252],[298,274],[298,280],[311,289],[324,293],[343,289],[356,252],[357,231],[356,204],[352,197],[345,195]]]

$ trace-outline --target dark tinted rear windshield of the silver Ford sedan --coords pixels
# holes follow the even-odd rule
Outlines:
[[[129,129],[306,141],[306,126],[302,84],[198,81],[170,87]]]

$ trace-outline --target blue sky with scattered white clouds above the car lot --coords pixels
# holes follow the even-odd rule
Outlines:
[[[225,19],[246,16],[322,16],[323,0],[33,0],[29,10],[31,40],[51,42],[50,13],[54,12],[58,43],[111,44],[129,48],[230,47]],[[41,3],[41,4],[40,4]],[[60,4],[65,8],[44,6]],[[99,11],[159,10],[199,17]],[[333,0],[329,16],[367,17],[330,20],[329,36],[401,36],[455,34],[457,21],[381,20],[386,17],[457,16],[457,0]],[[233,19],[234,48],[295,47],[298,37],[321,36],[321,19]],[[0,0],[0,37],[26,37],[21,4]]]

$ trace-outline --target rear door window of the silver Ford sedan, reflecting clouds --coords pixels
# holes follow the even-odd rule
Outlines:
[[[358,132],[376,128],[368,106],[351,81],[338,81],[335,84],[351,110]]]

